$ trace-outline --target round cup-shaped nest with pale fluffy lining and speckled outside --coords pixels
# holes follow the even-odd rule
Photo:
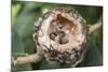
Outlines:
[[[76,67],[86,51],[86,27],[82,16],[70,8],[55,8],[35,24],[37,51],[50,61]]]

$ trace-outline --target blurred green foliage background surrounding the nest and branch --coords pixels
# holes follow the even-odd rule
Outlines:
[[[35,32],[35,21],[42,16],[44,9],[53,9],[58,3],[43,3],[43,2],[23,2],[12,1],[12,55],[13,56],[27,56],[35,54],[37,47],[32,40]],[[86,20],[87,26],[92,26],[102,17],[103,6],[93,5],[76,5],[76,4],[63,4],[70,8],[75,8],[82,17]],[[103,66],[103,27],[100,27],[93,34],[87,35],[87,52],[84,60],[78,64],[78,67],[95,67]],[[68,66],[57,66],[41,60],[37,63],[22,64],[12,67],[16,70],[42,70],[42,69],[59,69],[68,68]]]

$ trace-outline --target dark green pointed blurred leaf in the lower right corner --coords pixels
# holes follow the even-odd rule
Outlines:
[[[94,40],[93,37],[89,42],[84,66],[103,66],[103,54],[99,52],[98,44],[96,44],[96,40]]]

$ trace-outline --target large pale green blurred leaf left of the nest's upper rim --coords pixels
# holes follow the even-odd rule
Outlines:
[[[27,2],[22,13],[17,16],[13,26],[22,39],[26,39],[29,35],[32,37],[35,21],[41,15],[40,9],[38,9],[40,5],[42,4]]]

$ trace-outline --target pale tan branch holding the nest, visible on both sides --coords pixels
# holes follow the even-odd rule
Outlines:
[[[91,26],[89,28],[89,34],[92,34],[94,31],[96,31],[97,29],[100,28],[102,26],[102,20],[99,20],[98,23],[96,23],[95,25]],[[16,60],[12,61],[14,62],[14,64],[25,64],[25,63],[32,63],[32,62],[38,62],[40,61],[42,58],[42,56],[40,56],[38,53],[37,54],[32,54],[32,55],[28,55],[26,57],[18,57]],[[13,60],[13,59],[12,59]]]

